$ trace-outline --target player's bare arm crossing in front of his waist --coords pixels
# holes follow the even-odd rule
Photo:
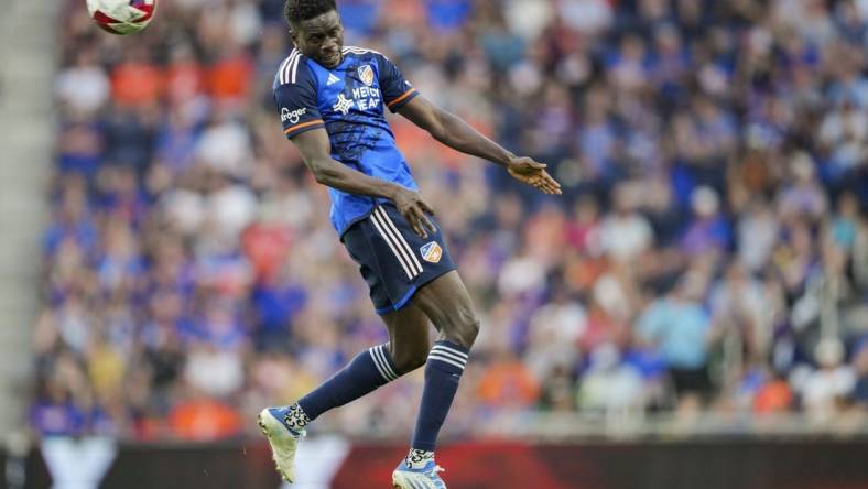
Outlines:
[[[304,163],[321,184],[349,194],[388,198],[419,236],[427,238],[426,228],[436,232],[436,228],[426,217],[426,214],[433,215],[434,211],[417,192],[366,175],[333,160],[332,143],[325,129],[302,132],[293,137],[292,142],[299,148]]]

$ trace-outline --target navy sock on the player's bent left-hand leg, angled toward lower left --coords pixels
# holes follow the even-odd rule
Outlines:
[[[377,345],[356,356],[339,372],[299,400],[307,416],[315,420],[326,411],[361,398],[380,385],[398,379],[392,356],[386,345]],[[306,423],[305,423],[306,424]]]

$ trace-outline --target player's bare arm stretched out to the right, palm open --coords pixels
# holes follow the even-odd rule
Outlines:
[[[516,156],[458,116],[441,109],[424,97],[413,98],[398,112],[449,148],[495,162],[506,167],[513,178],[546,194],[561,193],[561,184],[549,175],[545,164],[527,156]]]

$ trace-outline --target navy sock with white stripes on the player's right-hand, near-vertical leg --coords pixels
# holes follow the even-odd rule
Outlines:
[[[470,350],[451,341],[435,341],[425,365],[425,388],[411,447],[434,452],[443,422],[455,399]]]

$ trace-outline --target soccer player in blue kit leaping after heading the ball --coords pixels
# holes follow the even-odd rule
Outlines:
[[[516,156],[420,96],[382,54],[344,46],[335,0],[287,0],[284,13],[295,48],[274,78],[283,132],[316,181],[328,187],[332,224],[359,264],[389,343],[359,354],[296,403],[262,410],[259,424],[278,470],[292,481],[296,445],[310,422],[424,365],[410,453],[398,464],[392,485],[445,488],[434,463],[435,442],[479,319],[383,109],[546,194],[560,194],[561,186],[544,164]],[[428,323],[438,332],[433,346]]]

